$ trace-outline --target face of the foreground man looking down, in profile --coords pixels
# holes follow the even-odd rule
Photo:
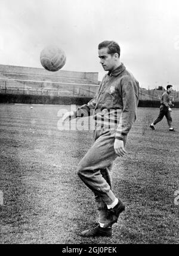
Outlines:
[[[100,63],[105,71],[112,71],[116,68],[115,55],[107,53],[107,47],[98,50]]]

